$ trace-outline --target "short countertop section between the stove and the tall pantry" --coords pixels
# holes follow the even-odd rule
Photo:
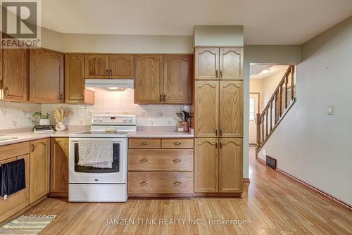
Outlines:
[[[137,132],[127,135],[129,138],[194,138],[190,132],[176,132],[176,127],[137,127]]]

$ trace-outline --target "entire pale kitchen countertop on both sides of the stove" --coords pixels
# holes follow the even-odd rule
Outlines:
[[[44,139],[49,137],[68,137],[70,134],[76,134],[89,130],[89,126],[84,127],[68,127],[68,130],[54,133],[34,134],[28,129],[14,129],[0,132],[1,135],[8,137],[17,137],[16,139],[8,139],[0,141],[0,146],[8,144],[16,144],[34,139]],[[127,135],[128,138],[194,138],[193,129],[190,132],[176,132],[175,127],[137,127],[137,132]]]

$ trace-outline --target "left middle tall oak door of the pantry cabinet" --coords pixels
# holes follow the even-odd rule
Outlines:
[[[219,120],[219,82],[196,81],[194,89],[196,137],[216,137]]]

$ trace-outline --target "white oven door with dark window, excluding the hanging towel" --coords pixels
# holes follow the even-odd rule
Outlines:
[[[70,184],[125,184],[127,178],[127,138],[111,138],[113,140],[113,167],[95,168],[77,165],[78,140],[70,138],[69,182]],[[88,139],[88,138],[84,138]],[[89,138],[90,140],[99,138]]]

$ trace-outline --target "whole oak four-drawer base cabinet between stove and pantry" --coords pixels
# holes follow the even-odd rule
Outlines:
[[[193,195],[193,148],[194,139],[129,139],[127,185],[130,197]]]

